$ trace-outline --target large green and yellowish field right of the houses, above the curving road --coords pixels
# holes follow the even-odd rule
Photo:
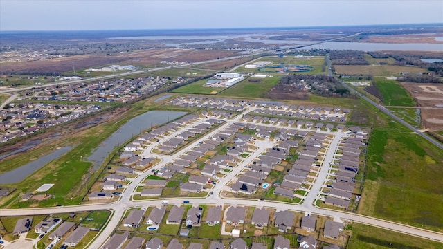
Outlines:
[[[375,129],[359,212],[443,231],[443,154],[415,134]],[[427,203],[424,205],[424,203]]]

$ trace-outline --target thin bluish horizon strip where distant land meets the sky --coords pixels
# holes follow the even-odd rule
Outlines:
[[[91,29],[91,30],[82,30],[82,29],[73,29],[73,30],[0,30],[0,33],[3,32],[66,32],[66,31],[146,31],[146,30],[242,30],[242,29],[275,29],[275,28],[350,28],[350,27],[377,27],[377,26],[407,26],[407,25],[442,25],[442,23],[409,23],[409,24],[351,24],[351,25],[332,25],[332,26],[272,26],[272,27],[225,27],[225,28],[152,28],[152,29]]]

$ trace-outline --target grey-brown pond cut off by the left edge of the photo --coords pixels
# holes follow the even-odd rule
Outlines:
[[[70,151],[71,149],[72,147],[70,146],[62,147],[60,149],[57,149],[56,151],[53,151],[53,153],[51,154],[42,156],[41,158],[28,163],[27,165],[18,167],[17,169],[11,170],[10,172],[0,174],[0,183],[18,183],[30,174],[33,174],[37,169],[51,162],[51,160],[60,158],[60,156]]]

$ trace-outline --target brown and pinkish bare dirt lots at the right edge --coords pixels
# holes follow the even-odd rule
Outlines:
[[[443,131],[443,84],[402,83],[422,109],[422,123],[427,129]]]

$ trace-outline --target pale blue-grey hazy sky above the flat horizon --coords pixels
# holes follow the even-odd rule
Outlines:
[[[442,0],[0,0],[0,30],[443,23]]]

